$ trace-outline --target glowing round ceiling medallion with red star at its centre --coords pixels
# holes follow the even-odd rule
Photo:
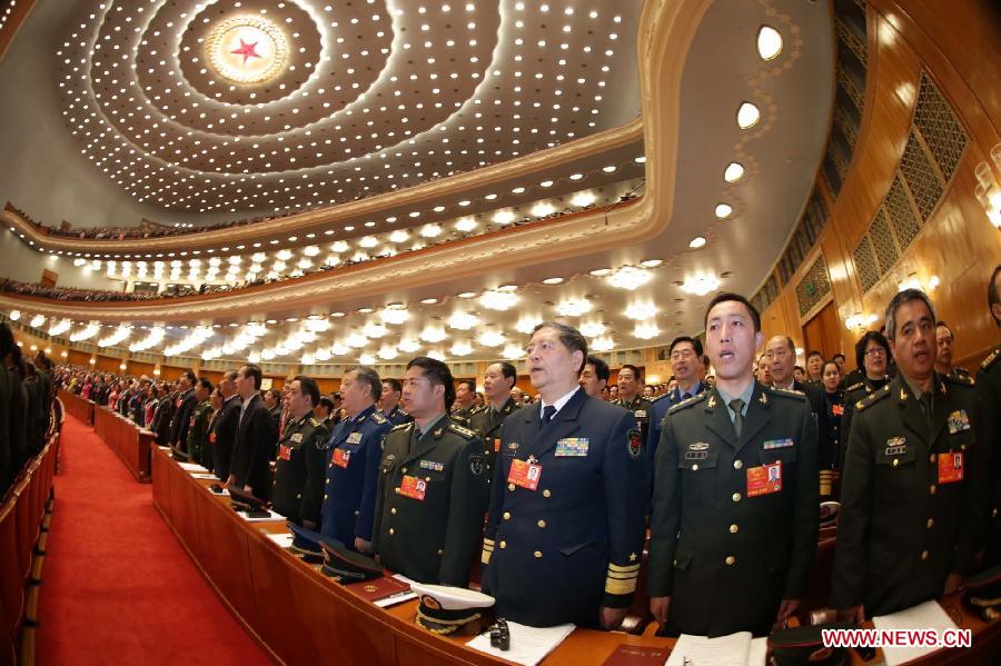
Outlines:
[[[259,17],[220,21],[206,40],[206,58],[219,76],[242,86],[266,83],[288,64],[288,42],[274,23]]]

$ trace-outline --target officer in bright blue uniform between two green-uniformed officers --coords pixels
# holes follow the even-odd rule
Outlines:
[[[320,531],[369,554],[375,521],[376,491],[383,440],[389,420],[376,409],[383,390],[379,375],[358,366],[340,379],[341,409],[345,417],[334,427],[327,443],[327,481],[324,489]]]

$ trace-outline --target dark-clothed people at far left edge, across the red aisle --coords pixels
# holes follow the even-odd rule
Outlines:
[[[41,453],[61,410],[53,394],[53,364],[39,351],[21,354],[13,332],[0,322],[0,496],[31,458]],[[54,415],[54,416],[53,416]]]

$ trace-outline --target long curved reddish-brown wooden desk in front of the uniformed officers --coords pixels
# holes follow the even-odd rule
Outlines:
[[[467,648],[468,637],[437,636],[417,626],[416,600],[381,609],[334,583],[268,538],[287,533],[284,520],[244,520],[229,508],[228,497],[208,490],[211,483],[192,478],[167,449],[152,446],[153,503],[222,602],[279,663],[507,663]],[[973,629],[974,648],[921,663],[992,663],[990,655],[997,655],[992,650],[1001,643],[1001,622],[985,625],[965,614],[955,597],[943,605],[955,612],[961,627]],[[576,629],[544,664],[602,664],[621,644],[670,647],[674,640]],[[852,656],[853,664],[864,664]]]

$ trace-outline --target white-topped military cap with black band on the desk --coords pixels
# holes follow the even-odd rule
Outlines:
[[[494,622],[494,597],[445,585],[414,583],[420,598],[415,622],[432,634],[476,636]]]

